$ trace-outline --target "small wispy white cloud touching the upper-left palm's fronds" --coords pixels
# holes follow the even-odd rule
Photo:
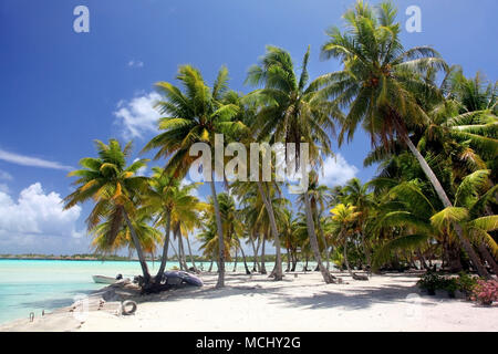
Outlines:
[[[154,110],[156,101],[160,96],[156,92],[138,96],[132,101],[121,101],[117,104],[115,124],[122,127],[123,137],[126,139],[143,137],[145,133],[156,133],[159,113]]]

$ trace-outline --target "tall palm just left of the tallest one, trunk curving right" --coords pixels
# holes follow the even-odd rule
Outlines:
[[[310,48],[304,54],[302,71],[298,76],[294,71],[290,54],[277,46],[267,46],[267,53],[258,65],[250,67],[247,82],[252,85],[263,85],[248,95],[248,100],[255,98],[261,104],[255,119],[253,129],[258,140],[273,143],[294,143],[295,155],[286,156],[295,159],[295,166],[300,164],[301,144],[309,144],[310,162],[319,164],[322,155],[331,154],[330,134],[333,133],[333,123],[330,118],[333,105],[326,100],[321,100],[318,85],[308,85],[308,60]],[[308,168],[304,166],[303,168]],[[315,260],[326,283],[333,279],[323,267],[314,231],[314,218],[312,216],[308,192],[305,192],[304,206],[311,247]]]

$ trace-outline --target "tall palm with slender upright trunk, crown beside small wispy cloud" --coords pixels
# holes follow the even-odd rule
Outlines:
[[[195,157],[189,155],[194,144],[205,143],[214,150],[216,134],[237,132],[234,117],[238,107],[221,103],[228,82],[226,67],[219,71],[212,88],[207,86],[200,72],[190,65],[180,66],[176,79],[184,86],[184,92],[167,82],[156,84],[166,98],[156,105],[159,112],[166,115],[159,119],[159,129],[164,132],[154,137],[144,152],[158,148],[155,158],[169,158],[165,170],[172,171],[175,177],[183,177],[195,160]],[[211,187],[219,240],[217,287],[221,288],[225,285],[225,243],[212,169],[207,179]]]

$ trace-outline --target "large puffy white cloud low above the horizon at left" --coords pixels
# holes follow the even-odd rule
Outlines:
[[[62,198],[52,191],[45,194],[35,183],[19,194],[18,200],[0,191],[0,240],[22,240],[25,237],[73,237],[84,232],[76,230],[81,207],[63,210]]]

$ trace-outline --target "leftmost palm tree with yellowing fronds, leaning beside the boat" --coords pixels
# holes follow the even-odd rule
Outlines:
[[[131,143],[123,149],[116,139],[110,139],[108,145],[95,140],[95,145],[98,157],[81,159],[80,165],[83,168],[69,174],[70,177],[77,177],[74,185],[79,187],[64,198],[64,209],[93,199],[95,206],[86,219],[86,225],[89,230],[93,230],[102,219],[106,219],[110,222],[105,237],[108,244],[114,243],[126,225],[138,256],[145,285],[147,285],[151,282],[151,274],[141,238],[132,221],[137,214],[141,194],[144,194],[148,187],[147,178],[136,176],[136,173],[145,166],[147,160],[139,159],[126,166],[126,158],[132,150]]]

